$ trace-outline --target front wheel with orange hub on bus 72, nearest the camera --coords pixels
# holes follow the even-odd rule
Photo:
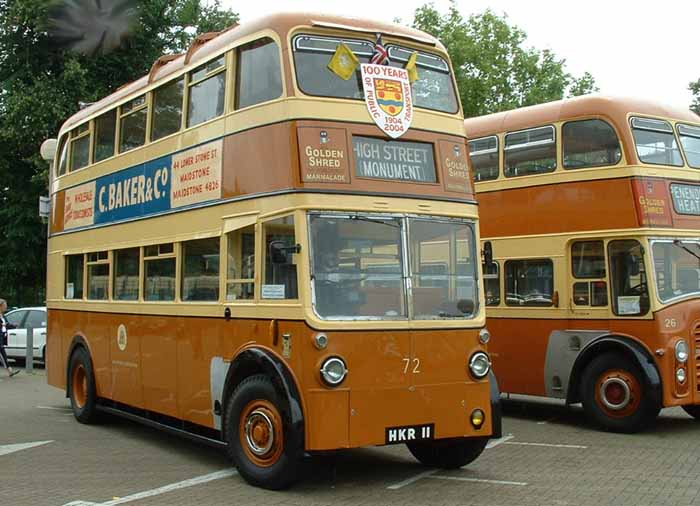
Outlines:
[[[299,479],[303,435],[295,433],[286,399],[280,399],[269,377],[258,374],[238,385],[224,424],[229,458],[248,483],[280,490]]]

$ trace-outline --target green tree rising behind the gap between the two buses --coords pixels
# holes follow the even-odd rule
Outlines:
[[[445,15],[428,4],[416,10],[413,26],[447,48],[466,117],[597,91],[591,74],[575,79],[564,59],[525,47],[525,32],[491,10],[464,19],[454,2]]]

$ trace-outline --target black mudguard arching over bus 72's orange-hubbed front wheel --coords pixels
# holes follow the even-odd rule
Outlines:
[[[277,394],[287,401],[289,408],[289,420],[291,431],[288,437],[300,438],[298,444],[302,445],[304,438],[304,413],[302,410],[301,395],[292,373],[287,365],[273,353],[262,348],[248,348],[241,352],[234,360],[226,374],[224,382],[224,402],[228,402],[231,394],[238,384],[251,374],[266,374],[271,380]],[[223,412],[226,412],[224,409]]]

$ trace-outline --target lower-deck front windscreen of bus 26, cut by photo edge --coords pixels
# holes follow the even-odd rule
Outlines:
[[[656,289],[662,302],[700,295],[700,242],[654,241],[652,252]]]

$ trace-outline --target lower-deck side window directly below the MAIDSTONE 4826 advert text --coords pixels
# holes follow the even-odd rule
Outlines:
[[[219,238],[182,243],[182,300],[219,300]]]

